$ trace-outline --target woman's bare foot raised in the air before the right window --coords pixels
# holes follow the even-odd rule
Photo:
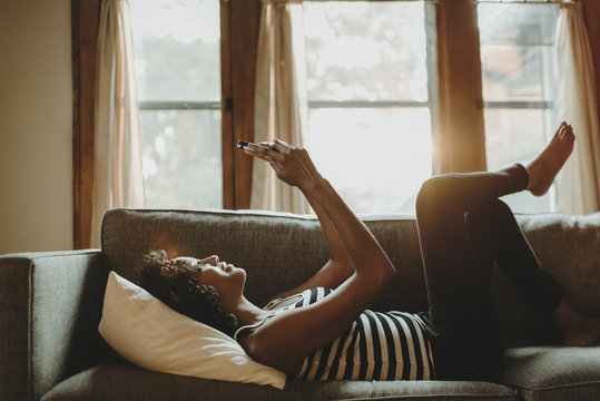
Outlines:
[[[528,190],[535,196],[542,196],[548,192],[554,177],[573,151],[574,140],[573,128],[563,121],[550,144],[538,157],[525,165],[529,173]]]

